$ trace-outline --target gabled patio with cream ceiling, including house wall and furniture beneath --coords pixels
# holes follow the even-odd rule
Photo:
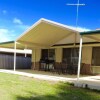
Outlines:
[[[78,54],[75,53],[78,52],[76,43],[79,43],[79,38],[77,30],[42,18],[16,40],[15,49],[18,43],[32,49],[33,70],[77,74]],[[61,46],[74,48],[69,50],[69,58],[64,56]]]

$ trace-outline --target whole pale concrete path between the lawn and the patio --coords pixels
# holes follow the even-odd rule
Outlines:
[[[100,76],[82,77],[79,79],[79,81],[77,81],[77,78],[66,78],[66,77],[60,77],[60,76],[57,77],[57,76],[51,76],[51,75],[31,74],[31,73],[26,73],[26,72],[4,70],[4,69],[1,69],[0,72],[17,74],[17,75],[37,78],[41,80],[70,82],[70,83],[74,83],[74,85],[77,87],[100,90]]]

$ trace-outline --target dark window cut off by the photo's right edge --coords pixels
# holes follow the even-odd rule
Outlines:
[[[92,65],[100,66],[100,47],[94,47],[93,48]]]

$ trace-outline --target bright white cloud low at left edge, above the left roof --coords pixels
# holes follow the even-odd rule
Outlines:
[[[0,42],[11,41],[15,39],[16,34],[14,34],[14,30],[8,30],[5,28],[0,29]]]

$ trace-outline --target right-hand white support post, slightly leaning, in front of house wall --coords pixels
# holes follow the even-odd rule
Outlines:
[[[80,48],[79,48],[79,59],[78,59],[77,81],[79,81],[79,76],[80,76],[81,55],[82,55],[82,37],[80,37]]]

